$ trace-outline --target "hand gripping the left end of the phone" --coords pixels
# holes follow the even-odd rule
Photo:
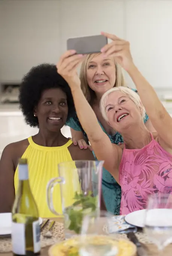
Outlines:
[[[76,54],[75,50],[68,50],[57,63],[57,72],[66,80],[71,89],[80,87],[81,82],[77,74],[77,67],[83,61],[82,54]]]

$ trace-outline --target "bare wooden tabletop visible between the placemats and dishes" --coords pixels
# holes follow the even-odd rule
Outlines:
[[[63,218],[49,218],[49,219],[52,221],[63,223]],[[145,246],[146,246],[146,252],[147,252],[148,256],[158,256],[158,255],[171,256],[172,255],[172,244],[170,244],[166,248],[164,248],[164,250],[163,250],[163,252],[161,252],[161,254],[159,254],[157,247],[154,244],[146,243]],[[50,246],[41,248],[41,255],[48,256],[49,248],[50,248]],[[13,256],[13,253],[12,252],[0,253],[0,256]]]

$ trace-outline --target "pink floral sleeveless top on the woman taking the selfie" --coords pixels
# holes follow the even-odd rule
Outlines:
[[[150,194],[172,193],[172,155],[151,138],[142,149],[124,148],[119,167],[121,215],[145,209]]]

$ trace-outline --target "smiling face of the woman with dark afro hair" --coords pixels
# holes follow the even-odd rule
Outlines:
[[[60,88],[43,91],[34,114],[38,117],[40,129],[60,131],[68,116],[66,94]]]

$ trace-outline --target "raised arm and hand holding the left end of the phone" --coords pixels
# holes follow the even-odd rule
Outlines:
[[[94,111],[85,98],[76,72],[78,64],[83,61],[83,56],[74,54],[75,52],[68,51],[62,55],[57,64],[57,71],[71,88],[77,116],[95,155],[98,160],[104,160],[104,167],[115,178],[118,178],[118,150],[120,151],[121,148],[112,144],[109,137],[103,132]]]

